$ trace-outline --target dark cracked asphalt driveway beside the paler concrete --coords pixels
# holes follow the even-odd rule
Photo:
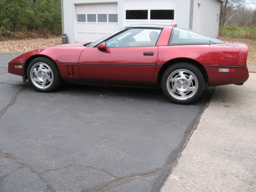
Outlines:
[[[0,54],[0,191],[156,191],[209,100],[67,85],[39,93]]]

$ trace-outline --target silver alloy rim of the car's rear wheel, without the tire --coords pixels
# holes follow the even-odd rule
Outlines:
[[[191,71],[178,69],[168,76],[166,87],[169,94],[174,98],[186,100],[197,93],[198,79]]]

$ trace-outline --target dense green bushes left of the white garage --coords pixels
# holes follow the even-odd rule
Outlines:
[[[60,0],[0,0],[0,27],[15,31],[61,33]]]

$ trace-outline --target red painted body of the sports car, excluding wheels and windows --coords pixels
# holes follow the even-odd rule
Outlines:
[[[26,77],[31,59],[47,56],[57,64],[61,78],[68,82],[157,86],[161,68],[182,59],[193,60],[203,66],[209,86],[243,83],[248,79],[246,45],[225,42],[168,46],[173,27],[163,28],[156,46],[106,48],[100,51],[97,47],[84,47],[84,43],[60,45],[20,55],[9,62],[8,71]],[[17,68],[17,65],[22,68]],[[231,72],[219,72],[219,69],[231,69]]]

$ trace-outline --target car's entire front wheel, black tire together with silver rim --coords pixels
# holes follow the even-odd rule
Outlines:
[[[38,65],[41,68],[38,67]],[[34,58],[29,63],[27,77],[34,89],[40,92],[52,92],[57,90],[61,85],[58,67],[47,57]],[[39,79],[41,79],[41,81]]]

